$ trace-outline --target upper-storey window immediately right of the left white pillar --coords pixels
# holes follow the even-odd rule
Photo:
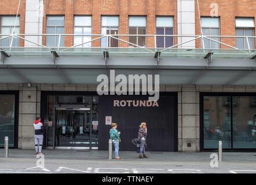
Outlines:
[[[64,34],[65,17],[64,16],[47,16],[47,34]],[[47,36],[46,46],[57,47],[59,36]],[[64,36],[61,36],[60,46],[64,46]]]

